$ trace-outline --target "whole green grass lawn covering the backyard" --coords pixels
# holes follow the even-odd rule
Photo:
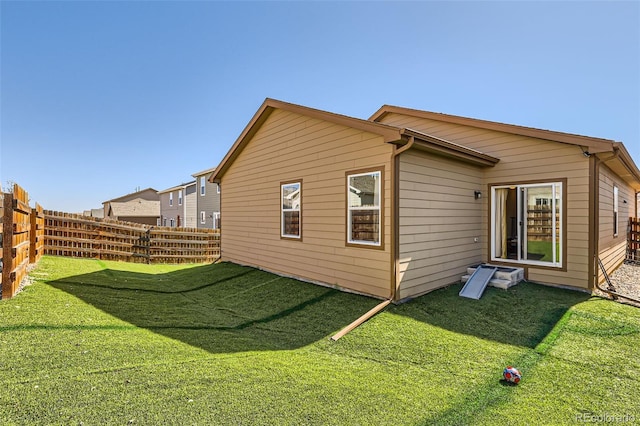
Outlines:
[[[379,301],[233,264],[31,276],[0,302],[2,425],[640,421],[640,310],[577,292],[454,285],[332,342]]]

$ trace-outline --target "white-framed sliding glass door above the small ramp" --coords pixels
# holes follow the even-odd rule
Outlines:
[[[562,182],[494,186],[491,200],[491,260],[562,267]]]

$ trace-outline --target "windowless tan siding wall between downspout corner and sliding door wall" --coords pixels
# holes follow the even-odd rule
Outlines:
[[[458,282],[482,261],[482,170],[415,150],[400,157],[400,299]]]

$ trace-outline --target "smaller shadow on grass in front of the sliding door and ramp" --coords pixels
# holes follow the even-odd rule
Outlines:
[[[536,348],[571,308],[591,296],[522,282],[509,290],[487,287],[480,300],[460,297],[462,284],[452,285],[410,303],[394,313],[456,333]]]

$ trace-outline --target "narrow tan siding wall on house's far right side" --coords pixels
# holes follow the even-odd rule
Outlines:
[[[618,187],[618,235],[614,236],[613,228],[613,186]],[[598,256],[607,270],[612,273],[624,261],[627,250],[627,226],[629,217],[633,217],[633,199],[635,192],[618,178],[605,165],[600,166],[599,173],[598,217],[600,232],[598,234]],[[626,203],[624,201],[627,201]],[[604,275],[598,269],[599,282]]]

